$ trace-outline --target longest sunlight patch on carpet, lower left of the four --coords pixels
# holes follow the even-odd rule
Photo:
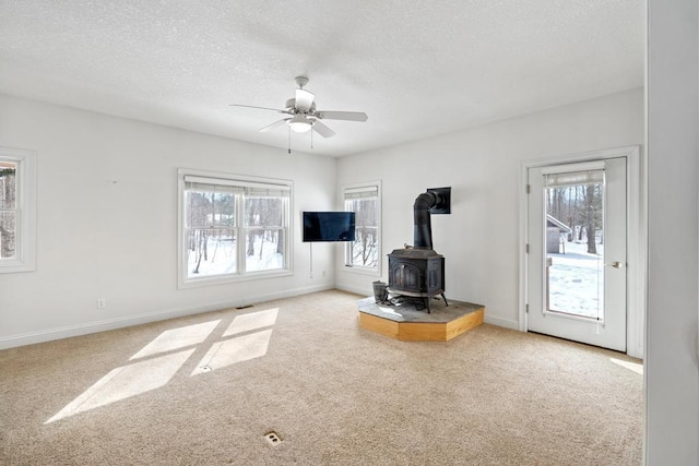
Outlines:
[[[44,423],[159,389],[193,353],[194,348],[114,369]]]

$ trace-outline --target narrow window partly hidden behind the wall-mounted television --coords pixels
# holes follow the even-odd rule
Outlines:
[[[358,271],[380,273],[381,202],[380,183],[343,189],[345,211],[355,213],[355,240],[347,243],[345,265]]]

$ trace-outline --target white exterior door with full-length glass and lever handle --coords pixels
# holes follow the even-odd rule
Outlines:
[[[529,331],[626,351],[626,166],[528,169]]]

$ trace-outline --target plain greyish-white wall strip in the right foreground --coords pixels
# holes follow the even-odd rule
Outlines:
[[[649,0],[649,465],[699,464],[699,9]]]

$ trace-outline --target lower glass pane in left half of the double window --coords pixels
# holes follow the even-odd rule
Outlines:
[[[237,272],[234,229],[187,230],[187,278]]]

